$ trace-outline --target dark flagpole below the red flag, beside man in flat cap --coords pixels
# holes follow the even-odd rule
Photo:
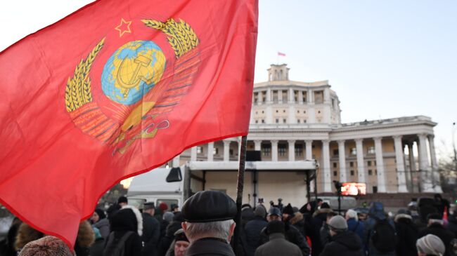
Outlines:
[[[243,187],[245,184],[245,164],[246,164],[246,144],[247,144],[247,135],[241,137],[241,147],[240,147],[240,164],[238,166],[238,182],[236,189],[236,227],[233,234],[233,251],[236,252],[238,247],[238,241],[240,240],[240,229],[241,229],[241,205],[243,201]]]

